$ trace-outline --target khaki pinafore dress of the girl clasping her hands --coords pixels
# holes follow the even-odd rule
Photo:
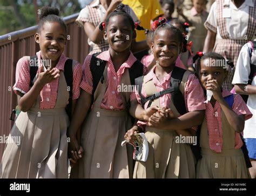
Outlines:
[[[184,94],[189,71],[184,73],[179,85]],[[156,86],[150,80],[143,83],[147,96],[157,92]],[[159,98],[154,99],[151,106],[160,107]],[[174,116],[180,116],[176,107],[170,102]],[[189,144],[176,143],[179,137],[175,130],[158,130],[149,126],[145,127],[145,136],[149,143],[149,156],[146,162],[136,161],[133,178],[195,178],[196,158]]]

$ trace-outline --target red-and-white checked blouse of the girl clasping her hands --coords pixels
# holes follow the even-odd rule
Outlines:
[[[144,82],[148,82],[149,80],[153,80],[154,85],[156,86],[157,92],[169,89],[171,87],[171,74],[170,72],[168,75],[166,75],[161,81],[157,79],[156,74],[154,73],[156,70],[156,66],[153,67],[153,69],[144,77]],[[139,104],[142,104],[140,100],[140,96],[138,91],[133,92],[135,94],[135,97]],[[146,97],[146,92],[144,85],[142,86],[142,95]],[[134,96],[131,96],[131,100]],[[186,109],[188,112],[191,111],[198,111],[198,110],[205,110],[205,104],[204,104],[204,91],[200,85],[200,82],[198,78],[193,75],[192,73],[187,78],[187,83],[185,86],[184,91],[184,99],[186,104]],[[170,100],[171,100],[171,93],[163,94],[159,97],[160,107],[170,107]],[[149,104],[149,101],[145,103],[144,109],[147,108],[147,105]],[[146,122],[144,121],[138,121],[138,126],[142,127],[144,129],[144,125],[146,125]],[[193,127],[195,129],[195,127]]]

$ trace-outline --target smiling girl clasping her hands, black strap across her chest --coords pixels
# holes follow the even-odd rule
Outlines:
[[[141,82],[130,108],[145,132],[149,156],[145,162],[136,161],[133,178],[195,178],[190,144],[197,141],[195,129],[190,128],[203,122],[204,92],[193,73],[175,66],[178,55],[186,51],[181,31],[165,24],[164,18],[154,22],[153,30],[151,50],[157,63],[146,76],[136,79]],[[129,130],[125,139],[132,141],[134,132]]]

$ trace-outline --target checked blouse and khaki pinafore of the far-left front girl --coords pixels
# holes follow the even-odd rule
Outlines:
[[[43,66],[41,51],[36,55],[39,73]],[[60,70],[59,78],[45,84],[29,111],[21,112],[16,119],[9,137],[19,137],[21,143],[6,144],[1,178],[68,178],[66,130],[69,118],[65,106],[68,104],[69,91],[63,73],[67,59],[64,54],[60,56],[56,65]],[[17,91],[27,93],[30,90],[29,66],[26,57],[19,59],[13,87],[16,94]],[[72,99],[79,97],[81,79],[82,67],[76,63],[73,66]]]

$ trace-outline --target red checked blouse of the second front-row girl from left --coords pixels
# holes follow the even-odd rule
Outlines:
[[[125,68],[130,68],[134,62],[136,62],[136,57],[130,52],[128,59],[120,66],[119,70],[116,72],[114,70],[114,65],[111,60],[109,50],[100,53],[97,58],[106,60],[107,62],[107,82],[106,82],[106,92],[100,108],[105,110],[124,110],[125,104],[123,103],[121,93],[118,91],[118,85],[121,83],[122,75]],[[83,64],[83,79],[80,87],[87,93],[92,94],[92,74],[90,70],[91,55],[88,55]],[[144,74],[147,72],[147,68],[144,65]]]

